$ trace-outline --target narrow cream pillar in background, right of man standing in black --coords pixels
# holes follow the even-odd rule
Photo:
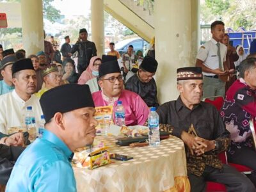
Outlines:
[[[96,45],[97,56],[104,54],[104,9],[103,0],[91,0],[92,41]]]

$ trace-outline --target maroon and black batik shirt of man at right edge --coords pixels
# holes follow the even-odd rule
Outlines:
[[[252,148],[249,122],[256,116],[256,93],[243,78],[237,79],[228,89],[220,114],[230,132],[231,145],[228,152],[232,155],[234,149],[241,146]]]

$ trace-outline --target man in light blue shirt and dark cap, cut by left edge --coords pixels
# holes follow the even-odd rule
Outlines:
[[[16,61],[15,56],[6,56],[1,61],[0,70],[3,80],[0,81],[0,95],[12,92],[14,89],[12,84],[12,64]]]

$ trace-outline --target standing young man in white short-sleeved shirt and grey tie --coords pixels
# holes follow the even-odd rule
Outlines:
[[[220,20],[212,22],[212,38],[200,47],[196,56],[196,67],[202,67],[204,75],[203,97],[225,96],[225,82],[232,71],[225,63],[227,47],[220,42],[225,34],[224,26]]]

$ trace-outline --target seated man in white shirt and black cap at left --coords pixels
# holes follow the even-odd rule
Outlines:
[[[36,127],[43,114],[36,91],[36,72],[30,59],[19,60],[12,66],[15,90],[0,96],[0,132],[8,133],[10,127],[25,127],[26,108],[32,107]]]

